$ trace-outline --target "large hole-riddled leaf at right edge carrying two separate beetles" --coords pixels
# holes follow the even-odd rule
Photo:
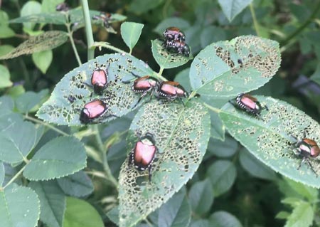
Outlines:
[[[293,137],[306,137],[320,141],[320,125],[296,107],[272,97],[257,96],[269,111],[262,111],[262,120],[246,112],[235,110],[227,103],[220,112],[228,132],[235,137],[249,152],[280,174],[316,188],[320,188],[320,178],[316,177],[309,165],[302,164],[302,159],[293,152]],[[309,159],[312,167],[320,174],[320,162]]]

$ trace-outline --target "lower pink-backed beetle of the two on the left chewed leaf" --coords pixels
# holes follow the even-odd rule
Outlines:
[[[102,100],[92,100],[87,102],[80,112],[80,122],[88,124],[102,117],[108,110],[107,103]],[[117,117],[116,115],[107,115],[106,117]]]

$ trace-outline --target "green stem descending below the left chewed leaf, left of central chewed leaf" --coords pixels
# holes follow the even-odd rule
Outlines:
[[[100,137],[100,132],[99,132],[97,125],[92,125],[92,131],[95,132],[95,140],[97,142],[97,147],[102,154],[102,165],[103,165],[103,169],[105,169],[105,174],[107,176],[107,179],[110,180],[112,182],[112,184],[114,184],[115,188],[117,189],[118,182],[114,178],[114,176],[112,175],[112,172],[110,170],[110,167],[109,167],[109,164],[107,161],[107,152],[106,152],[107,148],[105,148],[105,146],[103,146],[103,142]]]

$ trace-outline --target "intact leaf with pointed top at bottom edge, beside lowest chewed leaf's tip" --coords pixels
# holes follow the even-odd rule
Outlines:
[[[191,219],[191,207],[186,199],[186,189],[181,189],[159,209],[158,226],[185,227]]]

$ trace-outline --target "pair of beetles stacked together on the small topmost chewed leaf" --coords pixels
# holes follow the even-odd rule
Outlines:
[[[186,57],[190,55],[190,48],[186,44],[186,36],[179,28],[166,28],[163,45],[171,53],[178,53]]]

